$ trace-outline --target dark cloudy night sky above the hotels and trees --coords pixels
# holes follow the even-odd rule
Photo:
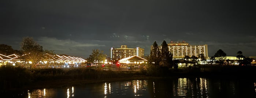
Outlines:
[[[209,56],[256,56],[255,0],[1,0],[0,44],[20,50],[23,37],[44,49],[87,58],[93,49],[154,41],[208,45]]]

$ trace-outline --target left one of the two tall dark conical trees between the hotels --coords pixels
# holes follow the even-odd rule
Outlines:
[[[150,50],[150,56],[149,56],[149,64],[152,63],[153,65],[159,65],[160,62],[160,50],[158,48],[158,45],[156,44],[156,41],[152,45],[152,50]]]

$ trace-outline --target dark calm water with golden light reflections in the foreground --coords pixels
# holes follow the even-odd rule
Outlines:
[[[254,98],[249,79],[176,78],[28,90],[27,98]]]

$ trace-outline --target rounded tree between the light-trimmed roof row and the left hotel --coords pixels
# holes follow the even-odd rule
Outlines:
[[[107,54],[104,54],[103,51],[96,49],[92,50],[92,54],[87,58],[88,62],[94,62],[95,61],[105,61],[107,57]]]

